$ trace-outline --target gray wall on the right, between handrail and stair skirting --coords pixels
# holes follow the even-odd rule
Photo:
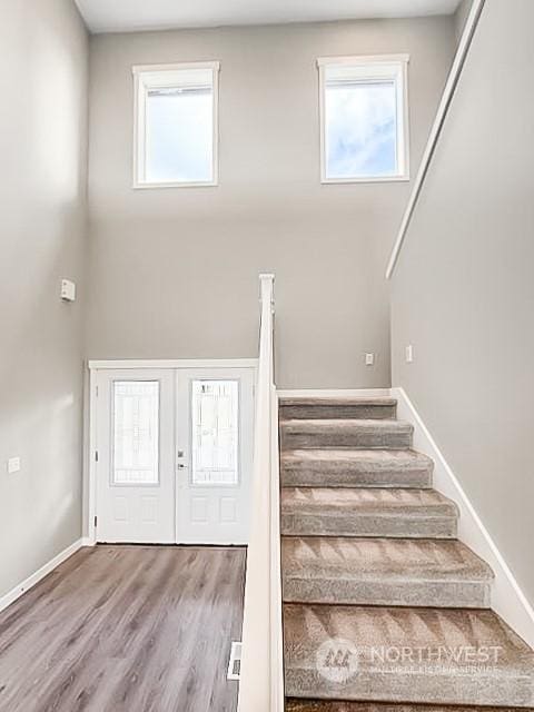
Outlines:
[[[487,0],[393,281],[394,385],[531,602],[533,27],[532,0]]]

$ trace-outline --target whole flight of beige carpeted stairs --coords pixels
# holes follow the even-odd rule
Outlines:
[[[288,712],[534,706],[534,653],[412,441],[392,398],[280,399]]]

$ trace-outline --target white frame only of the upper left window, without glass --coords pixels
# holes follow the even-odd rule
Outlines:
[[[147,95],[152,87],[176,87],[177,72],[184,70],[210,69],[212,72],[212,166],[211,180],[147,181]],[[209,188],[219,185],[219,61],[179,62],[172,65],[136,65],[134,75],[134,189],[158,188]]]

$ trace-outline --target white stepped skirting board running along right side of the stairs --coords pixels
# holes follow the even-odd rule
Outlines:
[[[495,573],[492,607],[534,647],[533,607],[404,388],[392,388],[390,395],[398,400],[397,417],[415,427],[414,448],[434,459],[436,490],[456,502],[459,507],[458,538],[484,558]]]

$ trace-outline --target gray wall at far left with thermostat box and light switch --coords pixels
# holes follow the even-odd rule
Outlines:
[[[88,69],[70,0],[1,14],[0,595],[81,534]],[[80,288],[72,306],[65,276]]]

